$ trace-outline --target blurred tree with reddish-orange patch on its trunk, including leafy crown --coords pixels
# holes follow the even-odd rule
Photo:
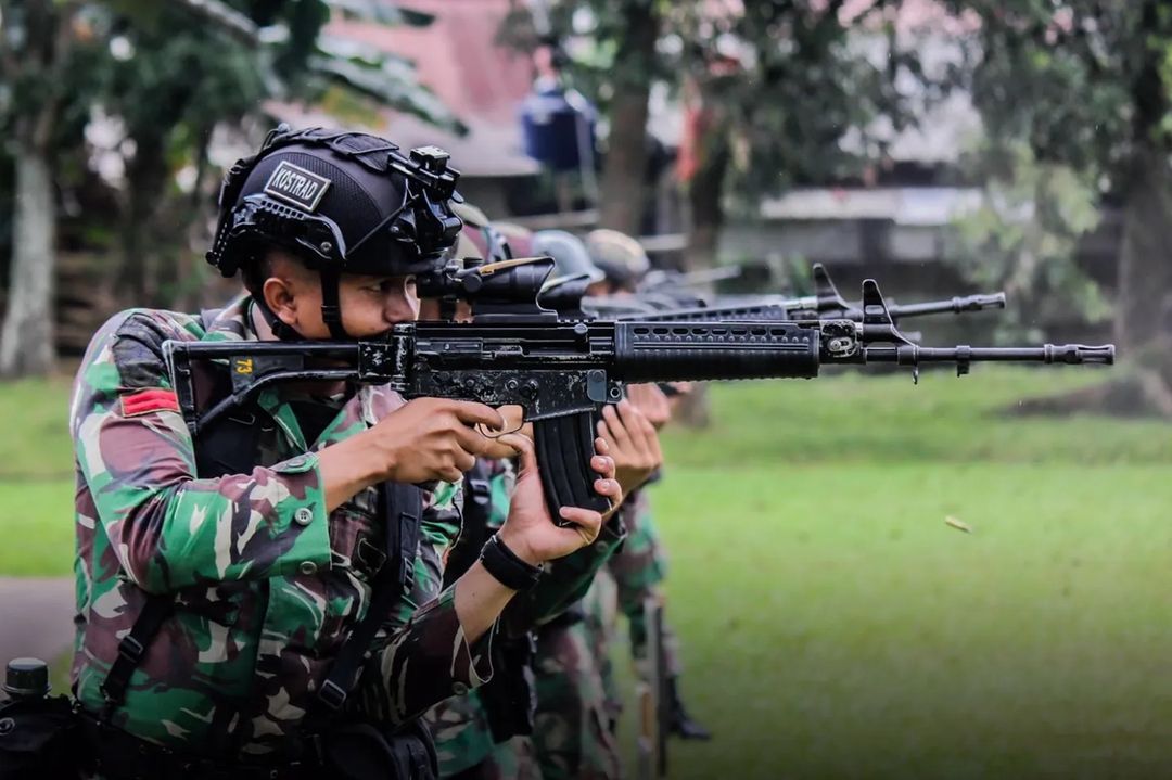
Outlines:
[[[755,214],[762,196],[858,177],[881,160],[877,131],[909,122],[897,76],[919,73],[914,53],[897,41],[890,12],[898,6],[774,0],[676,8],[672,25],[684,43],[673,70],[686,74],[690,102],[691,148],[681,150],[689,267],[714,262],[727,203]]]

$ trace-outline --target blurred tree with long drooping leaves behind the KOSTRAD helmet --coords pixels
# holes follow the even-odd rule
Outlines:
[[[381,25],[425,26],[430,15],[373,0],[275,2],[111,0],[113,56],[104,108],[123,123],[123,262],[117,289],[127,301],[169,305],[191,252],[170,237],[203,213],[207,145],[220,123],[264,115],[265,101],[313,102],[331,87],[377,105],[415,114],[454,131],[463,125],[424,87],[413,66],[332,35],[333,14]],[[202,23],[192,25],[192,19]],[[118,53],[121,52],[121,56]],[[370,111],[372,116],[375,111]],[[176,173],[195,170],[192,198]]]

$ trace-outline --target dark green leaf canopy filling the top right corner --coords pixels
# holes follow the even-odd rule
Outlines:
[[[1170,149],[1172,9],[1158,0],[952,1],[975,13],[966,85],[990,137],[1116,175],[1133,145]]]

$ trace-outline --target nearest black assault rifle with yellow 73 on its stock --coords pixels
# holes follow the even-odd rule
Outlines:
[[[540,307],[537,307],[540,309]],[[473,307],[475,312],[475,307]],[[193,437],[282,382],[387,384],[407,399],[517,404],[533,423],[541,483],[553,518],[563,506],[607,508],[591,490],[595,424],[625,382],[812,378],[823,365],[895,363],[918,376],[927,363],[1103,363],[1115,347],[920,347],[894,326],[879,286],[863,283],[863,320],[788,322],[565,321],[554,313],[490,314],[471,323],[406,322],[355,342],[182,342],[164,355]],[[230,365],[232,392],[200,409],[192,361]]]

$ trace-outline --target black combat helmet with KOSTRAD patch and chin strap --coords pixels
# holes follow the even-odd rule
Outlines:
[[[288,249],[321,274],[322,319],[345,338],[339,275],[401,276],[442,265],[461,228],[449,203],[459,199],[458,176],[435,146],[404,156],[377,136],[281,125],[225,176],[207,262],[232,276],[274,245]],[[279,336],[295,337],[257,302]]]

